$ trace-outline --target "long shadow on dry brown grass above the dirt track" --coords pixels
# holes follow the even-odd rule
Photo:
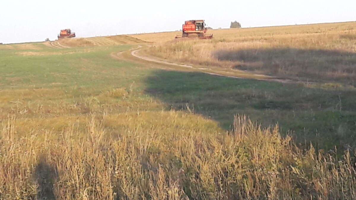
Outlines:
[[[269,75],[340,81],[355,86],[356,54],[297,48],[219,50],[219,61],[239,64],[235,69],[261,71]]]

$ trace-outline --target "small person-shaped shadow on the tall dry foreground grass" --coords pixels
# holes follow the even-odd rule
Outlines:
[[[40,156],[34,176],[38,183],[37,199],[55,200],[56,195],[53,192],[53,184],[56,182],[57,173],[54,167],[46,162],[44,156]]]

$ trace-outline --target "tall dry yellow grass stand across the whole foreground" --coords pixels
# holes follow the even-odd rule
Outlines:
[[[196,119],[174,111],[90,115],[59,134],[33,128],[17,137],[18,121],[9,116],[0,135],[0,198],[356,197],[349,152],[343,160],[313,147],[302,152],[278,126],[261,129],[244,116],[230,133],[194,128]]]

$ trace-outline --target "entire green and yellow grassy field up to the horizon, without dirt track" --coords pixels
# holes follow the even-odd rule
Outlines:
[[[2,45],[0,199],[355,199],[355,27]]]

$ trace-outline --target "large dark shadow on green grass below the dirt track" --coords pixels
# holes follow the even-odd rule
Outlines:
[[[146,79],[146,93],[167,104],[216,120],[231,130],[233,116],[246,114],[262,126],[291,131],[297,142],[324,148],[356,145],[356,91],[157,70]],[[341,143],[340,143],[341,142]],[[308,144],[307,144],[308,145]]]

